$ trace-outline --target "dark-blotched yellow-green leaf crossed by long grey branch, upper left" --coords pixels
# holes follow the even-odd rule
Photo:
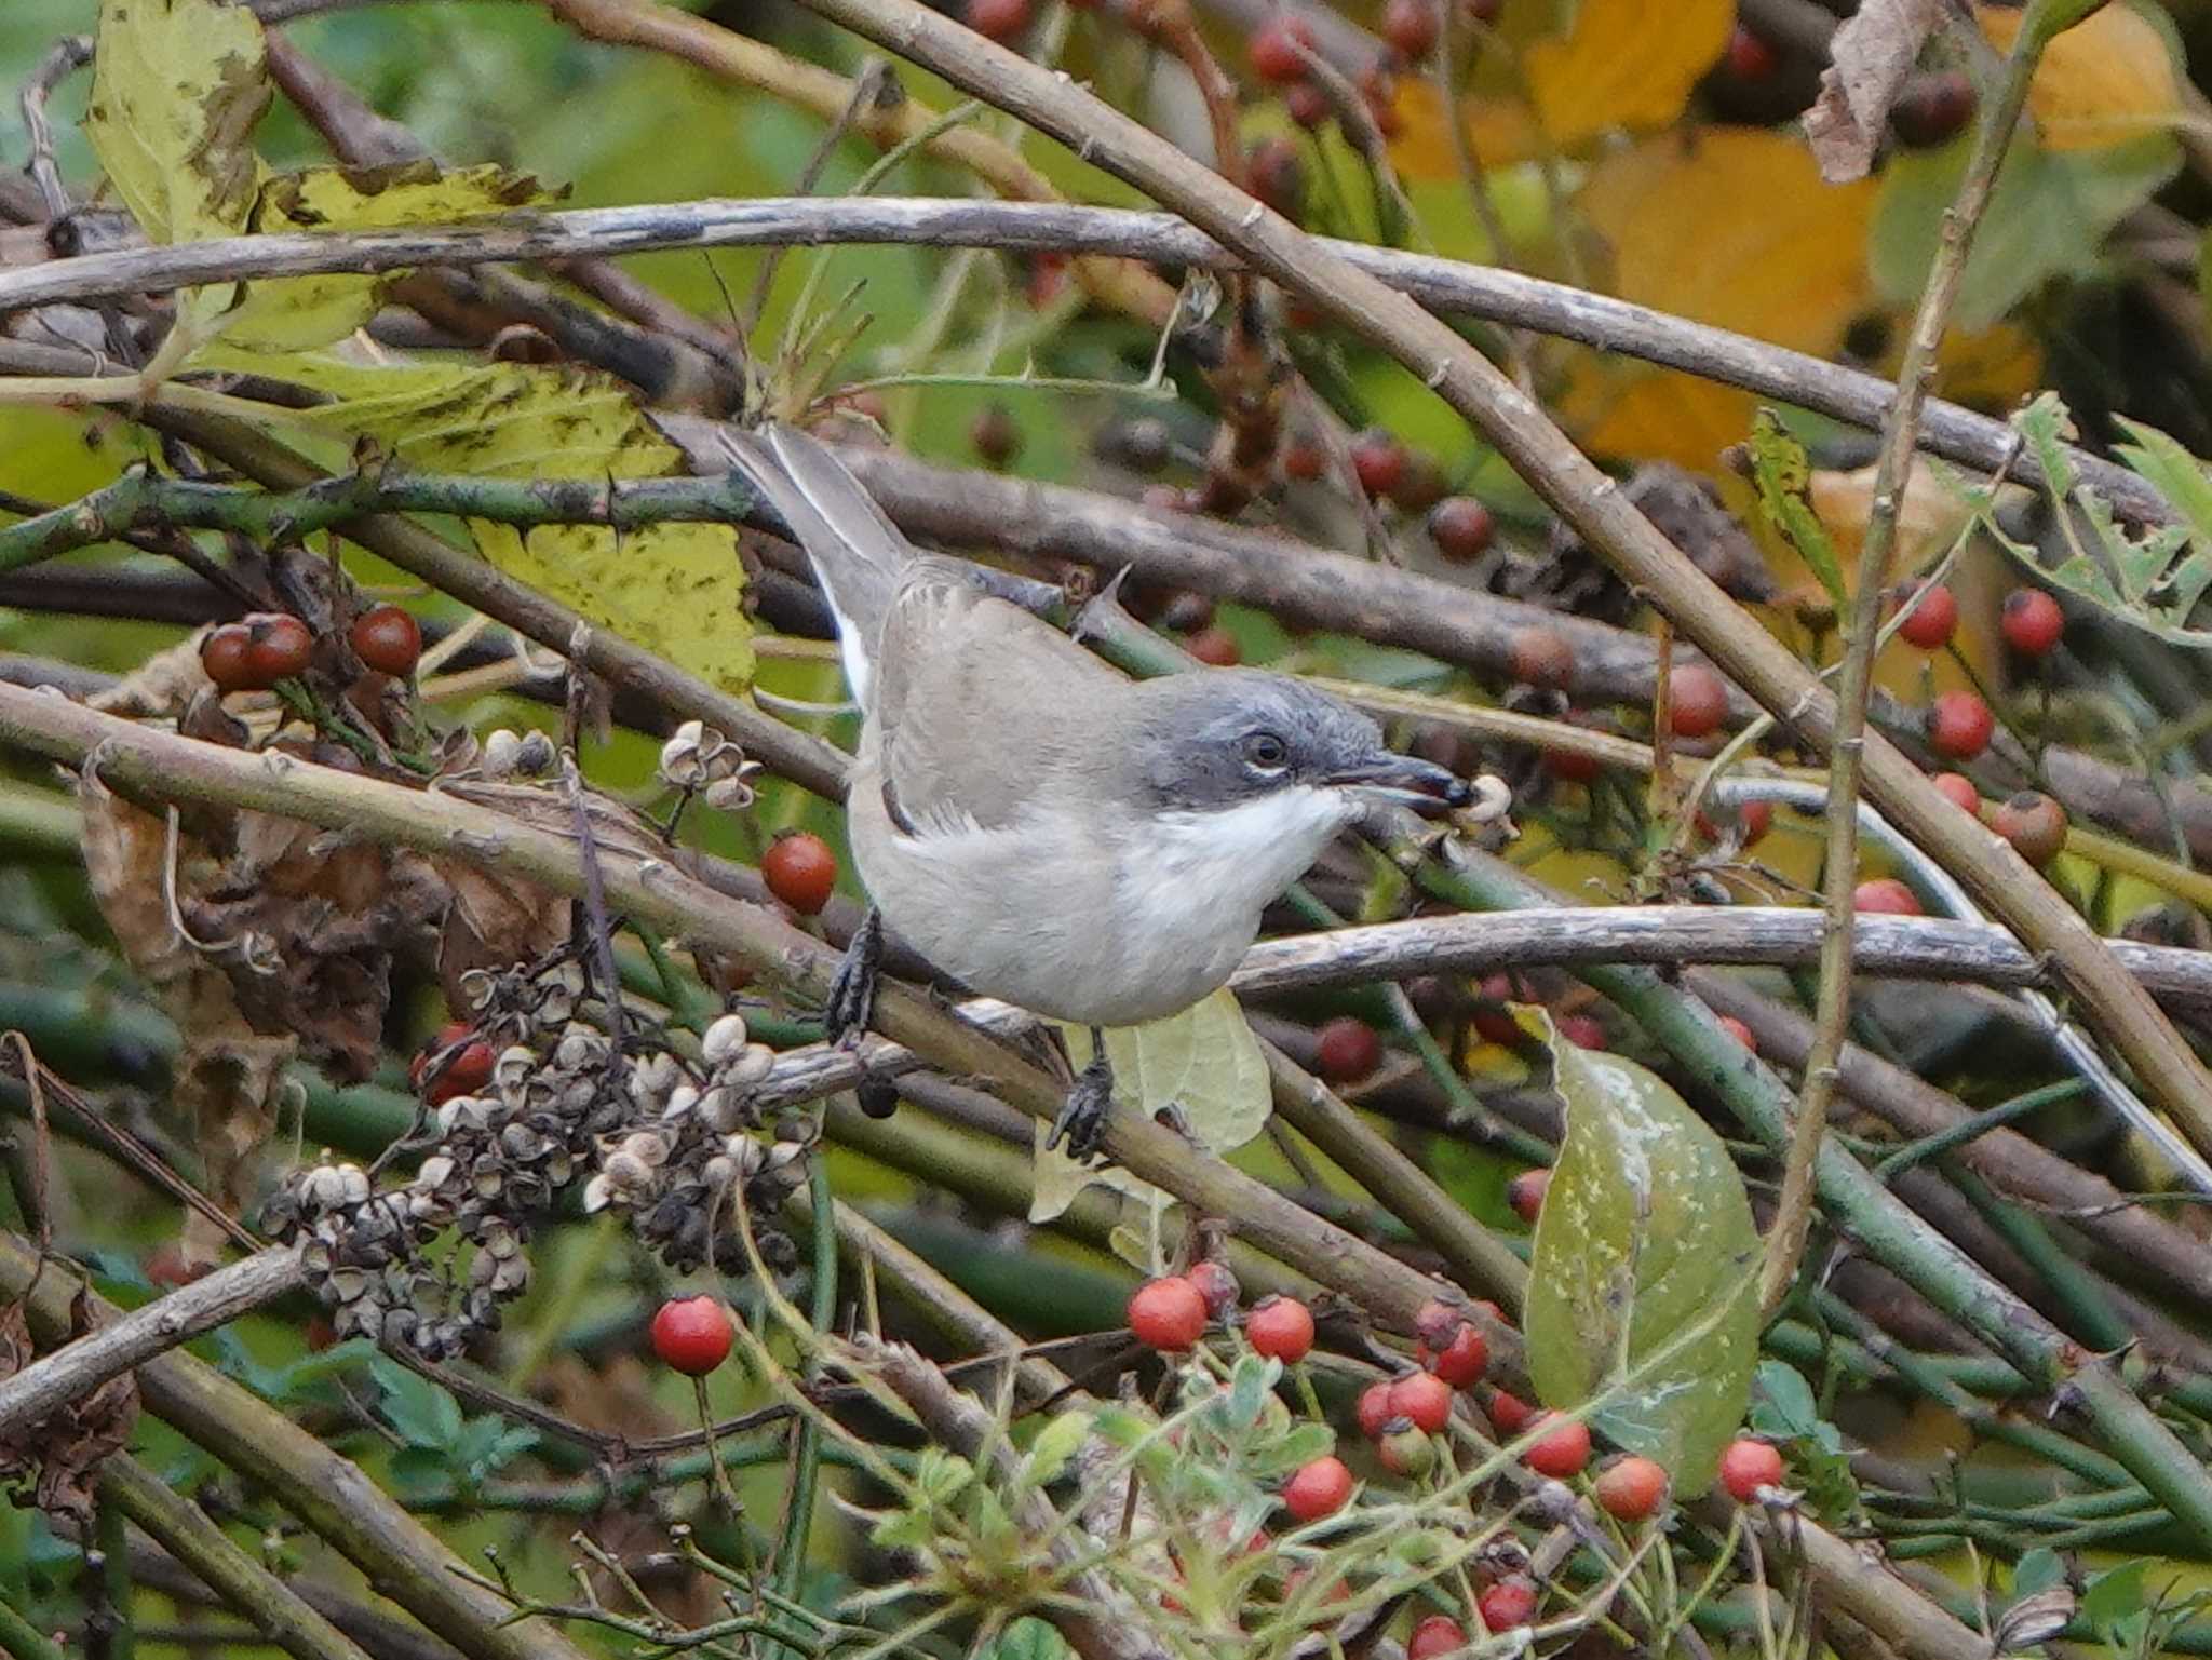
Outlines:
[[[500,166],[442,173],[436,162],[376,168],[310,168],[270,179],[254,230],[389,230],[451,224],[544,199],[538,179]],[[223,339],[250,352],[310,352],[343,341],[376,314],[405,272],[380,277],[279,277],[243,288],[223,317]]]

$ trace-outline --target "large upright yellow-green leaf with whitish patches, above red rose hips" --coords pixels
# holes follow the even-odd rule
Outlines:
[[[1566,1142],[1528,1262],[1528,1377],[1703,1492],[1759,1359],[1759,1235],[1743,1177],[1681,1096],[1632,1060],[1551,1045]]]

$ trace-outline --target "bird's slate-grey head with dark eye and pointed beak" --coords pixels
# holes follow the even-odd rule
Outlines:
[[[1146,682],[1133,761],[1164,812],[1221,812],[1283,790],[1347,790],[1409,806],[1464,806],[1451,772],[1383,744],[1383,728],[1303,682],[1210,668]]]

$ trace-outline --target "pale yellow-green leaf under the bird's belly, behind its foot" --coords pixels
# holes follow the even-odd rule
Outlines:
[[[1062,1025],[1068,1060],[1082,1069],[1091,1060],[1091,1031]],[[1113,1062],[1115,1111],[1177,1113],[1177,1122],[1208,1153],[1230,1153],[1267,1124],[1274,1091],[1267,1058],[1245,1025],[1243,1009],[1225,989],[1166,1020],[1141,1027],[1108,1027],[1106,1058]],[[1031,1222],[1051,1222],[1093,1182],[1135,1197],[1164,1202],[1148,1182],[1115,1166],[1077,1164],[1062,1151],[1046,1151],[1046,1127],[1037,1124],[1035,1191]]]

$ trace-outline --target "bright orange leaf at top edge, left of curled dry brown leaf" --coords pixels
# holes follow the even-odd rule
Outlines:
[[[1736,27],[1734,0],[1582,0],[1564,38],[1528,49],[1528,95],[1555,144],[1672,122]]]

